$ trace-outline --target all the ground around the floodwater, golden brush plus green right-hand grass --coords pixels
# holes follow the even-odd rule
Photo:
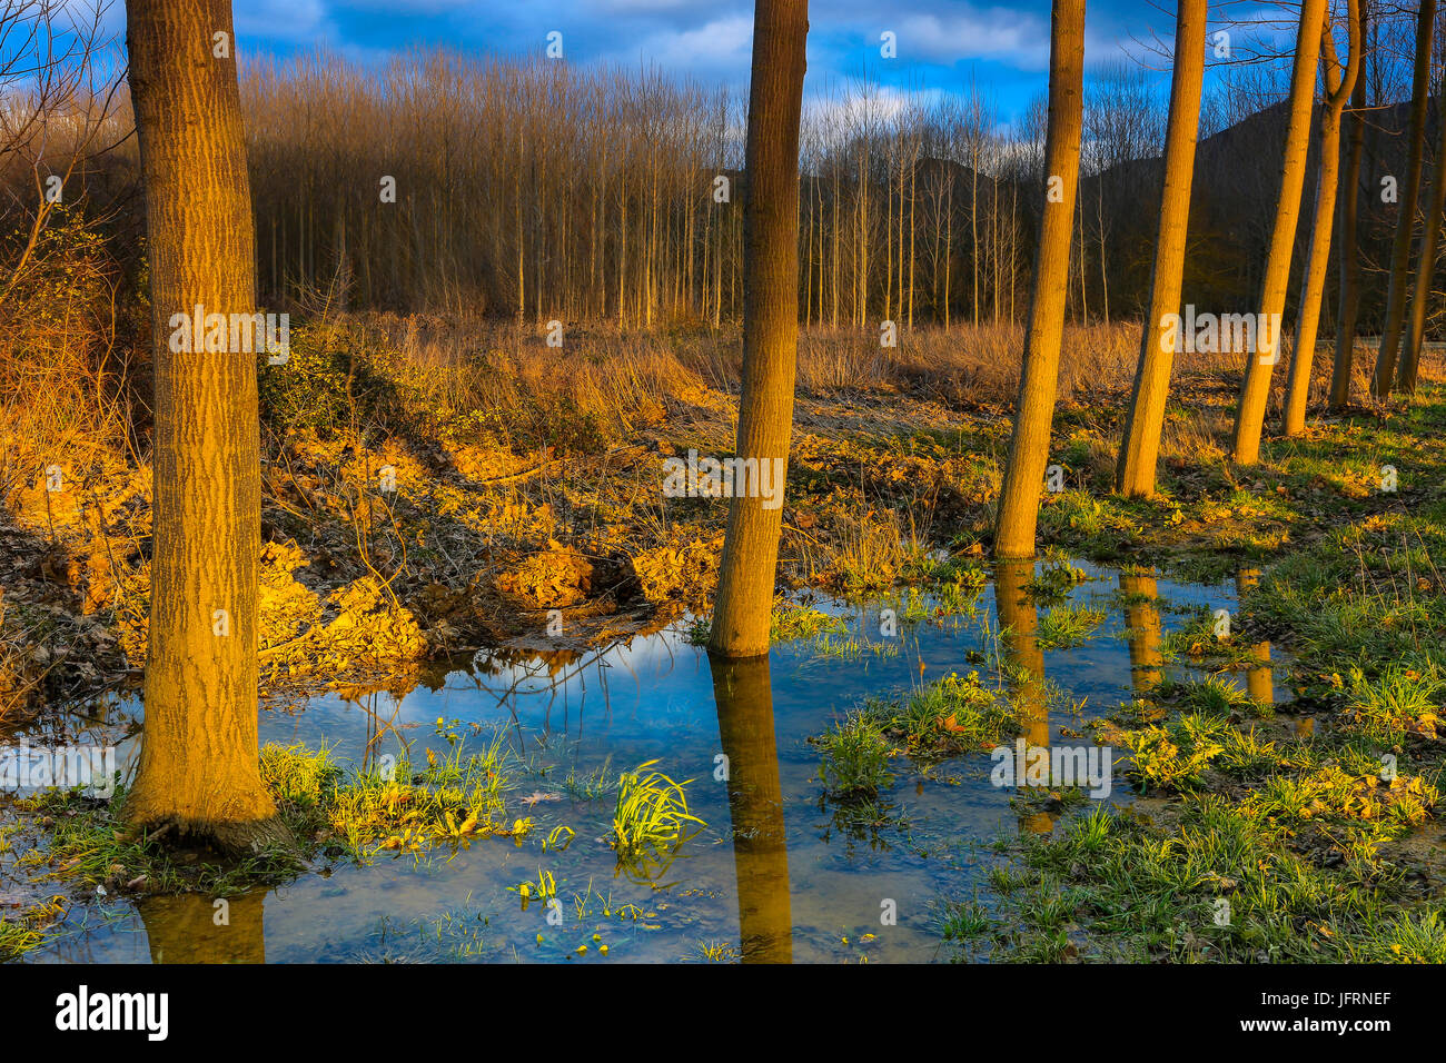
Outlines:
[[[581,353],[500,343],[463,360],[425,325],[298,328],[292,359],[263,369],[263,696],[406,690],[428,658],[477,646],[565,662],[707,610],[727,500],[664,498],[661,483],[669,457],[732,454],[736,395],[720,382],[736,354],[584,334]],[[1116,360],[1134,343],[1090,331],[1073,343]],[[982,576],[1011,372],[988,350],[881,366],[805,343],[781,590]],[[1066,380],[1041,550],[1183,580],[1261,570],[1239,639],[1293,654],[1296,701],[1274,723],[1168,684],[1122,706],[1099,738],[1132,751],[1150,800],[1021,839],[1001,910],[954,911],[964,952],[1446,959],[1446,924],[1421,907],[1440,898],[1432,810],[1446,785],[1446,389],[1440,366],[1426,372],[1411,402],[1268,435],[1241,470],[1220,444],[1238,369],[1183,366],[1150,500],[1112,493],[1128,370]],[[145,659],[149,466],[120,448],[49,464],[59,480],[19,483],[0,513],[7,725],[134,686]],[[1304,738],[1280,726],[1306,716]],[[1384,755],[1398,774],[1372,781]],[[1219,846],[1259,874],[1220,881]],[[1231,926],[1184,928],[1220,897]]]

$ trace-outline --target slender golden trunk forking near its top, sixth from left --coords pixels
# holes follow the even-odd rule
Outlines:
[[[1355,90],[1361,69],[1361,0],[1349,0],[1346,14],[1351,51],[1345,72],[1336,58],[1335,27],[1326,17],[1320,33],[1323,52],[1322,80],[1326,101],[1320,108],[1320,176],[1316,182],[1316,217],[1310,227],[1306,253],[1306,281],[1300,295],[1300,324],[1290,353],[1290,375],[1281,409],[1281,430],[1287,437],[1306,431],[1306,401],[1310,398],[1310,369],[1316,357],[1316,330],[1320,325],[1320,298],[1326,291],[1326,266],[1330,263],[1330,230],[1336,218],[1336,185],[1340,174],[1340,113]]]

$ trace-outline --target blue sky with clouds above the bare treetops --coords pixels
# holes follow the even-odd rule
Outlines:
[[[814,0],[810,9],[810,95],[857,77],[865,64],[899,93],[947,93],[973,80],[1004,121],[1044,91],[1048,0]],[[427,45],[526,55],[558,30],[574,64],[652,62],[742,87],[753,0],[234,0],[234,12],[241,46],[273,55],[317,45],[363,62]],[[1174,4],[1092,0],[1086,25],[1086,62],[1144,55],[1152,38],[1170,39]],[[885,30],[898,40],[892,61],[879,55]],[[1150,65],[1161,61],[1150,56]],[[1167,75],[1157,77],[1167,88]]]

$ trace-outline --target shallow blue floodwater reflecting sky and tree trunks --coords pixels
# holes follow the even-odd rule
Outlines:
[[[1161,632],[1176,625],[1177,612],[1235,609],[1235,584],[1119,579],[1115,570],[1083,567],[1108,579],[1111,589],[1118,581],[1122,593],[1109,603],[1109,628],[1128,625],[1128,641],[1105,631],[1087,645],[1047,648],[1038,612],[1047,606],[1037,609],[1028,594],[1034,565],[1001,564],[977,612],[936,616],[934,602],[923,602],[925,615],[908,626],[908,649],[897,654],[853,657],[840,651],[849,639],[798,641],[775,648],[768,659],[726,664],[710,661],[683,631],[669,631],[581,655],[479,652],[382,683],[338,684],[309,701],[273,699],[260,716],[263,740],[325,743],[348,769],[375,764],[377,754],[401,755],[405,745],[416,762],[427,751],[447,754],[450,745],[434,726],[438,717],[455,720],[469,740],[500,730],[515,758],[506,817],[532,819],[532,834],[521,845],[490,839],[421,865],[383,858],[364,868],[341,865],[327,876],[302,875],[265,898],[270,934],[265,947],[260,895],[230,898],[220,923],[211,897],[121,897],[106,905],[104,918],[93,904],[74,905],[67,933],[33,956],[42,962],[580,962],[576,947],[586,943],[581,962],[671,962],[696,955],[704,942],[724,940],[740,942],[746,962],[938,959],[937,926],[927,920],[901,920],[886,934],[873,933],[881,898],[897,898],[901,911],[905,905],[925,911],[940,897],[969,895],[995,859],[977,842],[1001,829],[1050,832],[1066,813],[1050,811],[1058,808],[1054,803],[1041,808],[1037,785],[992,785],[988,751],[966,751],[928,769],[897,759],[894,787],[840,813],[842,806],[826,803],[820,752],[808,739],[868,697],[907,697],[921,683],[923,659],[947,674],[966,657],[982,661],[996,648],[1005,662],[1001,681],[1021,709],[1025,740],[1073,743],[1076,716],[1099,719],[1124,688],[1142,690],[1177,671],[1178,665],[1161,661]],[[1080,584],[1066,597],[1090,602],[1092,590]],[[1161,600],[1154,600],[1155,592]],[[820,605],[837,609],[860,644],[873,642],[879,623],[873,605]],[[1257,684],[1281,664],[1272,648],[1265,652],[1274,661],[1249,661]],[[977,667],[986,671],[985,664]],[[991,671],[986,681],[993,686],[993,680]],[[1066,697],[1079,706],[1069,719],[1056,709]],[[139,738],[127,738],[139,730],[137,720],[134,700],[117,697],[108,713],[51,716],[25,733],[32,743],[116,742],[120,764],[139,745]],[[1061,723],[1071,729],[1067,739],[1060,736]],[[726,787],[710,778],[720,751],[729,758]],[[709,827],[685,846],[687,859],[674,865],[671,882],[615,878],[616,855],[597,842],[612,829],[615,791],[607,784],[652,759],[677,778],[696,780],[690,807]],[[1125,788],[1118,793],[1128,798]],[[576,843],[565,850],[544,848],[562,826],[576,832]],[[785,830],[792,834],[785,837]],[[6,868],[0,861],[0,894],[12,889]],[[584,923],[576,924],[567,905],[565,934],[548,928],[538,907],[518,911],[512,891],[542,871],[555,875],[564,900],[594,897],[596,911]],[[597,907],[597,897],[610,901],[613,918]],[[625,907],[648,918],[619,917]],[[536,942],[539,931],[545,946]],[[596,931],[610,944],[610,957],[591,947]]]

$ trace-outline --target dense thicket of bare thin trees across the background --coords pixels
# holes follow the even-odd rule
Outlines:
[[[1413,30],[1413,13],[1394,7],[1372,22],[1356,174],[1404,172],[1404,104],[1395,104],[1411,80]],[[1258,298],[1278,192],[1258,159],[1280,150],[1285,132],[1290,56],[1238,52],[1249,61],[1212,61],[1181,276],[1183,301],[1220,312]],[[1071,321],[1147,311],[1167,111],[1160,72],[1170,62],[1161,49],[1087,74]],[[240,74],[257,292],[270,307],[308,305],[320,292],[351,308],[626,328],[742,315],[735,94],[648,68],[445,51],[379,67],[317,52],[250,61]],[[129,111],[117,124],[127,120]],[[1310,159],[1317,140],[1313,132]],[[902,93],[868,71],[820,84],[801,132],[801,324],[1021,323],[1043,149],[1043,98],[1008,113],[988,85]],[[98,189],[97,205],[126,202],[134,172],[124,145],[77,188]],[[1361,194],[1366,176],[1348,176],[1345,198],[1358,192],[1351,263],[1362,276],[1352,307],[1374,333],[1400,211],[1374,189]],[[1303,210],[1312,205],[1307,195]],[[1290,321],[1309,233],[1294,239]],[[1335,315],[1330,295],[1323,302]]]

